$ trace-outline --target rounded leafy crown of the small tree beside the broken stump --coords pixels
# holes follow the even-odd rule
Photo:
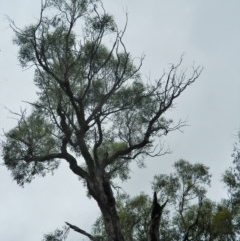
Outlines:
[[[181,200],[183,205],[191,204],[194,199],[202,199],[206,187],[210,185],[209,168],[203,164],[190,164],[185,160],[175,162],[174,168],[176,171],[173,174],[159,174],[154,177],[153,190],[159,191],[163,199],[173,203]]]

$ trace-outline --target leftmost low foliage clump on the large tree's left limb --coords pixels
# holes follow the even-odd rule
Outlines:
[[[53,125],[38,113],[21,119],[18,126],[6,134],[2,152],[4,163],[19,185],[23,186],[35,175],[44,176],[58,167],[57,160],[41,162],[41,157],[58,149],[52,134]]]

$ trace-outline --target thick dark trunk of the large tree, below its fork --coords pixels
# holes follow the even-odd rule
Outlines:
[[[109,179],[97,173],[88,180],[88,189],[102,212],[108,241],[124,241]]]

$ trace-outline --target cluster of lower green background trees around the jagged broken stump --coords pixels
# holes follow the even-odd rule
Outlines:
[[[169,175],[156,175],[152,186],[153,190],[158,190],[158,199],[166,204],[159,226],[160,240],[239,240],[239,203],[234,199],[234,194],[239,193],[239,174],[235,167],[223,175],[229,198],[218,203],[206,196],[211,179],[208,167],[179,160],[174,168],[175,172]],[[147,240],[151,203],[146,194],[135,197],[120,194],[117,197],[117,210],[126,240]],[[95,222],[93,233],[106,240],[102,217]]]

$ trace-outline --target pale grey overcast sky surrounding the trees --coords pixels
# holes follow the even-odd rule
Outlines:
[[[128,12],[124,40],[132,56],[146,55],[143,76],[161,76],[183,53],[187,66],[204,67],[170,113],[175,121],[187,119],[189,125],[166,138],[172,154],[147,160],[146,169],[134,168],[124,189],[151,194],[153,175],[171,171],[172,164],[184,158],[210,167],[209,195],[219,200],[224,195],[221,174],[231,165],[240,129],[240,1],[103,0],[103,4],[122,27]],[[25,106],[22,101],[36,98],[33,70],[23,71],[19,66],[6,15],[23,27],[37,19],[39,10],[40,0],[0,1],[0,127],[4,131],[16,124],[7,108],[19,111]],[[98,208],[85,194],[81,182],[64,164],[54,176],[38,178],[24,189],[0,166],[0,239],[40,241],[64,221],[90,231]],[[69,240],[77,239],[72,235]]]

